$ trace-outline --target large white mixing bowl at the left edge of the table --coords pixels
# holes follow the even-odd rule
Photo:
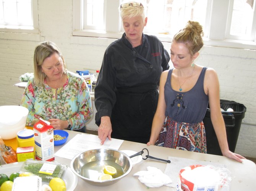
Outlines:
[[[15,138],[26,126],[28,109],[18,105],[0,106],[0,137]]]

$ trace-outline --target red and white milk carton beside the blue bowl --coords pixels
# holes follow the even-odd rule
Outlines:
[[[54,161],[53,126],[48,121],[40,118],[34,124],[35,159]]]

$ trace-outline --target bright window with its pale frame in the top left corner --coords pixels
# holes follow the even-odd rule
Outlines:
[[[38,33],[37,0],[0,0],[0,31]]]

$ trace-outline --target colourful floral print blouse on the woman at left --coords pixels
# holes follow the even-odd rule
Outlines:
[[[25,88],[21,106],[29,110],[27,126],[33,126],[39,118],[47,121],[71,119],[71,130],[78,130],[85,126],[92,115],[91,96],[86,81],[69,71],[66,83],[58,89],[50,88],[46,80],[42,86],[35,86],[34,78],[31,78]]]

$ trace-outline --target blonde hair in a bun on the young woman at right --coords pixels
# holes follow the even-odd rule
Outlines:
[[[176,33],[172,41],[185,43],[191,56],[197,53],[204,45],[203,27],[196,21],[188,21],[186,27]]]

